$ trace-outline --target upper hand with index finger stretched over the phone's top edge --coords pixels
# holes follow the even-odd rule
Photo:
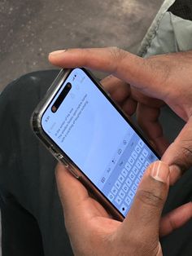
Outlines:
[[[49,58],[52,64],[63,68],[86,67],[112,73],[115,77],[129,83],[133,88],[134,95],[140,95],[139,97],[142,98],[142,94],[163,100],[179,117],[187,121],[181,134],[170,145],[162,158],[170,166],[170,183],[175,183],[182,172],[191,166],[191,51],[142,59],[127,51],[111,47],[56,51],[50,54]],[[158,108],[151,112],[151,108],[142,103],[137,110],[139,122],[146,133],[147,130],[150,130],[149,125],[154,121],[158,124],[156,121]],[[152,135],[153,138],[156,138],[155,143],[162,142],[162,139],[158,141],[158,133],[162,134],[162,131],[158,130],[159,125],[151,133],[147,133],[149,137]],[[157,134],[155,134],[156,132]],[[166,147],[166,141],[164,146]]]

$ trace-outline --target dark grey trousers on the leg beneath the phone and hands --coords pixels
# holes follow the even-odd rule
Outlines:
[[[56,162],[29,125],[33,109],[56,73],[30,73],[0,95],[2,256],[72,254],[55,184]],[[173,139],[183,122],[168,108],[161,119]],[[190,201],[191,196],[192,173],[188,171],[171,189],[165,211]],[[191,235],[192,222],[164,237],[164,255],[192,255]]]

